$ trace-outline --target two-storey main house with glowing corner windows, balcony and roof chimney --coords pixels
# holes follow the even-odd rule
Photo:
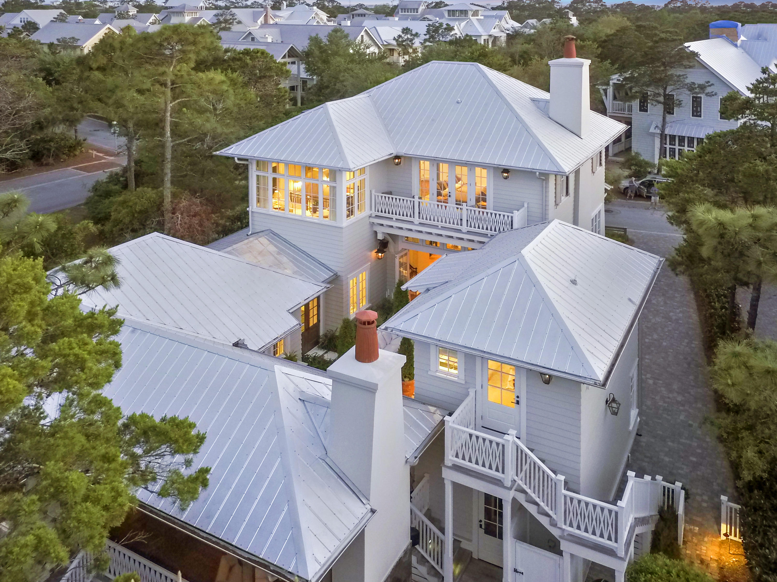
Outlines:
[[[250,164],[253,232],[337,272],[323,314],[334,329],[504,230],[559,218],[604,234],[604,149],[625,126],[591,111],[588,66],[552,61],[546,93],[435,61],[218,154]]]

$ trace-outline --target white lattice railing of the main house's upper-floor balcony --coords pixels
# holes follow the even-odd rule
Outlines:
[[[405,196],[393,196],[372,191],[373,215],[399,218],[413,223],[434,224],[435,226],[455,228],[466,232],[499,234],[505,230],[525,227],[528,206],[524,203],[521,210],[497,212],[475,206],[458,206],[434,200],[421,200]]]

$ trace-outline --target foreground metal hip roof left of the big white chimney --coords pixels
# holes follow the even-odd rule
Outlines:
[[[302,399],[331,397],[329,380],[133,320],[117,340],[123,365],[103,393],[124,414],[190,417],[207,435],[191,467],[211,467],[197,501],[181,511],[154,490],[138,490],[138,499],[290,579],[320,579],[374,513],[326,456],[305,409]]]

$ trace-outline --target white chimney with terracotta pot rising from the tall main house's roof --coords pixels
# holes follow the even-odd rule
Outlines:
[[[591,124],[588,67],[591,61],[577,58],[575,37],[564,38],[564,57],[550,61],[550,118],[585,137]]]

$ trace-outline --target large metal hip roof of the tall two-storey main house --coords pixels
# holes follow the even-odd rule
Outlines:
[[[548,99],[482,64],[433,61],[216,153],[344,170],[399,154],[566,175],[625,130],[591,111],[578,137],[545,113]]]

